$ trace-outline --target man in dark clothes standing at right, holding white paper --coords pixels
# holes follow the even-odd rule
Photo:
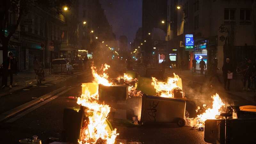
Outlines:
[[[225,63],[222,66],[222,72],[223,72],[223,80],[224,80],[224,89],[229,90],[230,79],[228,79],[228,74],[233,72],[233,68],[228,58],[226,59]],[[228,85],[227,85],[227,82],[228,82]]]

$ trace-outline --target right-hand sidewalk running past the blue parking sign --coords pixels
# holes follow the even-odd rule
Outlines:
[[[220,84],[220,82],[217,80],[217,78],[213,78],[212,81],[209,82],[210,76],[200,75],[199,72],[195,72],[195,73],[192,73],[192,71],[180,72],[179,70],[175,70],[175,69],[169,69],[169,68],[165,69],[165,73],[167,73],[168,75],[173,75],[172,74],[173,72],[175,74],[179,75],[182,80],[194,82],[194,83],[202,85],[202,86],[211,84],[217,91],[226,92],[228,94],[235,95],[237,97],[241,97],[241,98],[244,98],[249,101],[254,100],[254,95],[255,95],[254,90],[243,91],[243,80],[241,77],[236,77],[234,79],[231,79],[230,91],[226,91],[223,88],[224,82],[223,82],[222,76],[219,76],[220,81],[222,82],[222,84]]]

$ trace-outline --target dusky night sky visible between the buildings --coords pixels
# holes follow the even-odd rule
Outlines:
[[[125,35],[133,41],[142,25],[142,0],[100,0],[117,40]]]

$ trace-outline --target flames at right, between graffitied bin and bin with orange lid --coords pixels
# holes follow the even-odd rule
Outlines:
[[[207,119],[218,119],[220,116],[221,108],[225,107],[225,104],[220,99],[220,96],[218,93],[212,96],[212,108],[206,108],[206,105],[204,104],[203,107],[206,108],[205,112],[203,114],[197,115],[196,118],[188,118],[188,121],[191,126],[196,127],[204,127],[204,122]],[[200,107],[196,109],[198,111]]]

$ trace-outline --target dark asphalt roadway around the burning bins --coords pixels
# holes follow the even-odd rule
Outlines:
[[[11,95],[0,98],[0,116],[4,112],[16,108],[26,102],[39,98],[47,93],[65,86],[58,97],[50,97],[49,102],[44,105],[25,113],[29,108],[20,113],[9,117],[0,123],[0,143],[1,144],[18,144],[20,139],[25,139],[37,135],[43,140],[43,144],[49,137],[61,138],[63,130],[63,109],[67,107],[77,107],[76,100],[68,99],[68,96],[80,96],[82,82],[89,82],[91,76],[88,71],[85,72],[82,78],[77,78],[77,75],[63,77],[60,81],[54,81],[42,86],[33,86],[27,91],[18,91]],[[202,103],[202,100],[209,101],[211,104],[210,95],[214,90],[201,90],[200,87],[191,88],[188,82],[183,81],[183,89],[187,93],[189,100],[187,110],[190,116],[196,116],[195,108]],[[195,93],[198,95],[195,97]],[[242,98],[232,97],[230,95],[220,94],[221,97],[233,104],[250,104]],[[200,97],[201,99],[200,99]],[[33,98],[32,98],[33,97]],[[46,100],[44,100],[46,101]],[[43,101],[43,102],[44,102]],[[41,102],[41,103],[43,103]],[[40,104],[40,103],[39,103]],[[37,104],[37,105],[39,105]],[[30,108],[36,107],[34,105]],[[23,113],[22,113],[23,112]],[[21,115],[19,118],[17,116]],[[16,118],[16,119],[15,119]],[[13,120],[14,119],[14,120]],[[12,121],[12,122],[8,122]],[[120,127],[117,128],[120,135],[117,139],[126,140],[129,142],[140,142],[145,144],[204,144],[204,132],[192,130],[191,127],[178,127],[176,124],[168,125],[142,125],[140,127]]]

